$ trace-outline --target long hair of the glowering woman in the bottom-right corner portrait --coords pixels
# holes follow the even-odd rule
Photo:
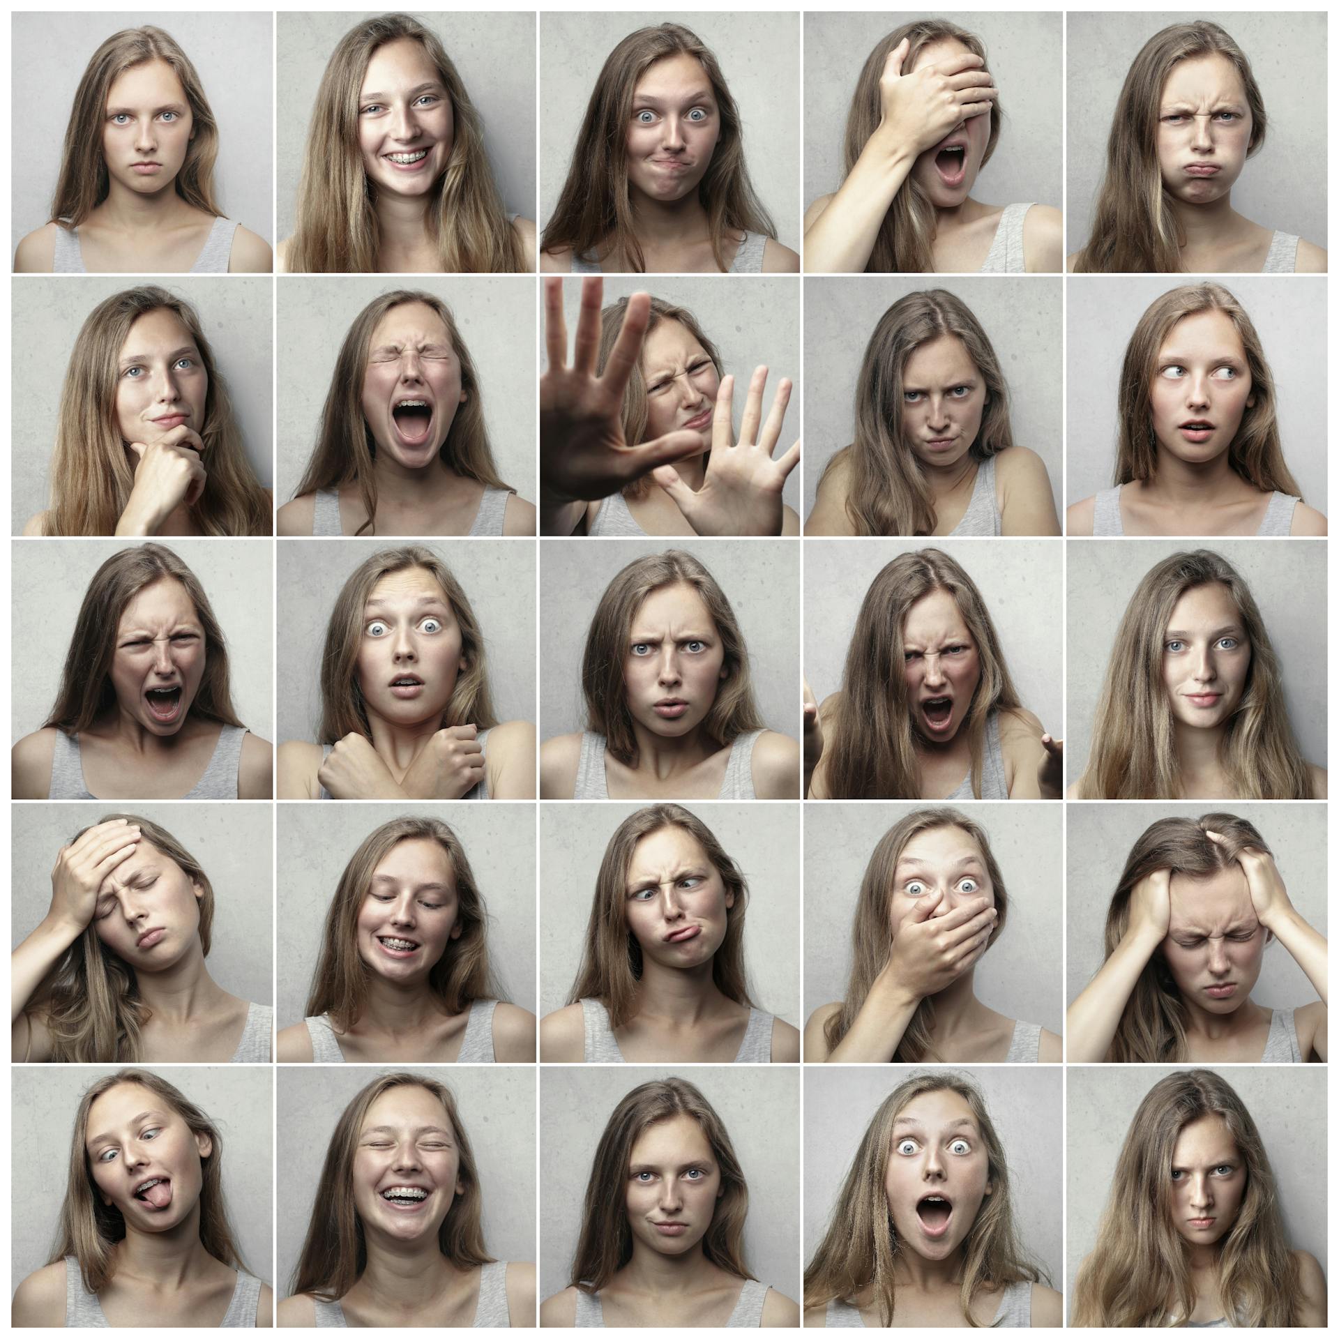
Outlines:
[[[1189,1249],[1172,1224],[1172,1157],[1192,1121],[1217,1115],[1245,1162],[1236,1221],[1217,1243],[1218,1296],[1228,1324],[1302,1324],[1302,1281],[1279,1213],[1279,1189],[1255,1121],[1212,1070],[1160,1079],[1134,1113],[1093,1253],[1074,1285],[1071,1326],[1184,1324],[1197,1293]]]

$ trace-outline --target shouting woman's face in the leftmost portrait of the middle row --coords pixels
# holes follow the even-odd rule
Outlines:
[[[205,627],[194,601],[174,577],[159,577],[126,605],[116,624],[116,707],[166,739],[185,724],[204,676]]]

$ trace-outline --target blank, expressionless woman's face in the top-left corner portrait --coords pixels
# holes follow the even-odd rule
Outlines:
[[[131,66],[111,82],[102,157],[118,186],[137,195],[171,187],[195,135],[186,90],[166,60]]]

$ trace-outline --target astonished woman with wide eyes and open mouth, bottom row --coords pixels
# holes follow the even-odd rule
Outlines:
[[[805,1326],[1058,1327],[1060,1295],[1042,1277],[986,1099],[951,1070],[913,1074],[874,1113],[833,1204]]]

